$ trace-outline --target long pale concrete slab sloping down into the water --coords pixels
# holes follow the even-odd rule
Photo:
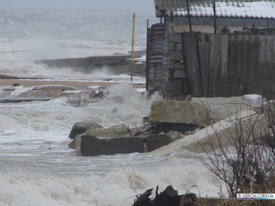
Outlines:
[[[234,140],[236,128],[243,130],[244,137],[250,137],[251,125],[254,125],[253,132],[257,137],[265,135],[262,129],[267,127],[267,122],[263,115],[259,115],[255,111],[242,111],[237,115],[223,119],[220,122],[207,128],[197,131],[193,135],[188,135],[183,139],[179,139],[169,144],[158,148],[153,152],[147,153],[145,156],[165,156],[170,155],[178,150],[186,149],[192,152],[211,152],[213,149],[217,150],[221,147],[228,147],[232,144],[230,141]],[[239,133],[239,132],[238,132]],[[217,138],[220,139],[217,141]]]

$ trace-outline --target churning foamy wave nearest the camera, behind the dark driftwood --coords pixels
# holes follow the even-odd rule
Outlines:
[[[136,194],[159,185],[173,185],[179,194],[186,191],[201,196],[217,196],[219,188],[201,163],[164,164],[148,170],[114,169],[104,176],[47,176],[43,174],[1,174],[1,205],[132,205]],[[126,199],[129,198],[129,199]]]

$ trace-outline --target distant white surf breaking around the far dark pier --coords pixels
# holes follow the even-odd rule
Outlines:
[[[131,49],[131,45],[127,43],[111,44],[77,39],[45,38],[0,38],[0,47],[0,73],[44,76],[79,76],[83,75],[83,71],[72,68],[48,68],[45,65],[35,65],[35,60],[126,54]],[[144,47],[136,49],[144,49]],[[13,51],[15,52],[12,53]]]

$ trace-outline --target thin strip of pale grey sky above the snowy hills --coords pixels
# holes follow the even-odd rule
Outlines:
[[[154,11],[154,0],[8,0],[1,8],[59,8]]]

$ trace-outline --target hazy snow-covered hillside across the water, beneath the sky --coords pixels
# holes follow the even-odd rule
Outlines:
[[[0,10],[0,37],[78,38],[93,41],[131,41],[133,12],[100,10]],[[153,12],[136,12],[137,41],[146,38],[146,19]]]

